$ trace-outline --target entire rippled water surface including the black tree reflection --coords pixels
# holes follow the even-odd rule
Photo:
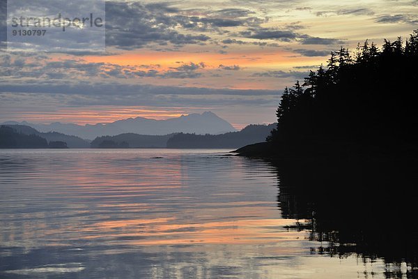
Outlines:
[[[226,153],[0,151],[0,278],[416,278],[415,172]]]

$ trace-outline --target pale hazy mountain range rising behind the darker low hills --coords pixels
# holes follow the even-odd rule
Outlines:
[[[146,119],[136,117],[134,119],[123,119],[112,123],[97,123],[84,126],[72,123],[50,123],[36,124],[26,121],[8,121],[2,125],[24,125],[35,128],[40,133],[56,132],[65,135],[74,135],[86,140],[93,140],[95,137],[104,135],[120,135],[123,133],[136,133],[140,135],[169,135],[172,133],[196,133],[199,135],[235,132],[235,128],[213,112],[203,114],[182,115],[167,120]]]

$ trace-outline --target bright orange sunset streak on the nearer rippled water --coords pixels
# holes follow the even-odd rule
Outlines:
[[[170,245],[190,243],[263,244],[303,239],[304,232],[287,231],[295,220],[252,219],[207,223],[174,223],[175,218],[118,220],[95,223],[84,239],[107,239],[130,245]],[[97,234],[99,232],[99,234]]]

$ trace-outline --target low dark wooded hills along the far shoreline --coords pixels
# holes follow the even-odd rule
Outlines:
[[[40,133],[24,125],[0,126],[0,148],[172,148],[219,149],[239,148],[264,142],[276,124],[249,125],[239,132],[220,135],[173,133],[169,135],[139,135],[124,133],[96,137],[92,142],[57,132]]]

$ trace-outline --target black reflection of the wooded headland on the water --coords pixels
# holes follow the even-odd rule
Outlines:
[[[415,164],[399,162],[277,165],[284,218],[326,243],[319,255],[385,262],[386,278],[418,278]]]

